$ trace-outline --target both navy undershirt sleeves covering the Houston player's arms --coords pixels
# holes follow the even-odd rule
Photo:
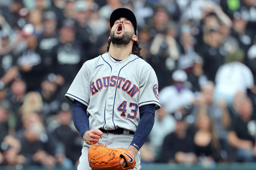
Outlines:
[[[73,121],[76,129],[80,133],[81,137],[89,129],[89,119],[86,114],[87,106],[83,103],[74,100],[73,103]],[[138,150],[147,140],[155,121],[155,104],[143,105],[139,107],[140,122],[135,131],[133,141],[130,145],[133,145]]]

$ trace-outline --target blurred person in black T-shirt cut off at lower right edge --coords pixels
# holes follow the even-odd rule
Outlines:
[[[229,144],[236,148],[236,157],[242,162],[255,162],[255,121],[251,119],[253,112],[249,98],[243,98],[238,108],[238,115],[232,121],[228,133]]]

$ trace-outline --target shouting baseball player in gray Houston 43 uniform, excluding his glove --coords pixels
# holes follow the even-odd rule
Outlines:
[[[86,61],[70,85],[73,121],[81,137],[92,144],[126,148],[140,166],[140,152],[160,108],[158,80],[140,56],[137,21],[126,8],[110,16],[107,53]],[[84,142],[78,170],[91,169],[90,144]],[[125,160],[120,161],[125,167]]]

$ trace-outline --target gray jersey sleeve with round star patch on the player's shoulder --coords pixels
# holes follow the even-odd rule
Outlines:
[[[158,80],[155,71],[151,68],[140,77],[139,106],[155,104],[160,108],[158,96]]]

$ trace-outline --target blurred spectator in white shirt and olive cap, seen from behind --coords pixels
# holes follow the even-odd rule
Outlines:
[[[215,98],[224,99],[231,105],[238,91],[247,93],[253,88],[254,79],[251,70],[243,64],[244,55],[234,53],[226,56],[226,63],[217,71],[215,77]],[[232,84],[232,86],[230,86]]]

